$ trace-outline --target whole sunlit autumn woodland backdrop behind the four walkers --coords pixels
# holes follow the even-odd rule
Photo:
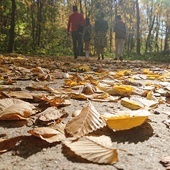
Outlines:
[[[169,61],[169,0],[0,0],[0,53],[72,55],[66,28],[73,5],[92,25],[99,11],[105,13],[107,56],[114,55],[113,27],[120,14],[127,26],[126,58]],[[95,55],[93,39],[91,53]]]

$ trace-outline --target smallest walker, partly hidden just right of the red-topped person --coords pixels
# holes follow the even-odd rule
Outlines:
[[[85,27],[83,33],[83,40],[85,44],[85,56],[88,59],[90,55],[90,40],[91,40],[92,26],[90,24],[90,18],[85,19]]]

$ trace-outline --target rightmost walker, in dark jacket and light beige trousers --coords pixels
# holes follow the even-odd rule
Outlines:
[[[126,26],[125,26],[125,23],[122,21],[122,18],[120,15],[116,16],[114,32],[115,32],[115,46],[116,46],[114,60],[120,59],[122,61],[124,44],[125,44],[125,39],[126,39]]]

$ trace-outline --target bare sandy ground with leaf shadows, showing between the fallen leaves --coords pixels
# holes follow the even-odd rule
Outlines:
[[[91,61],[93,64],[94,62],[96,60]],[[112,62],[106,60],[103,63],[105,68],[117,69]],[[97,64],[102,65],[102,62]],[[160,66],[163,68],[162,64]],[[123,67],[134,69],[130,68],[131,64],[125,64]],[[63,81],[58,80],[57,86],[62,86]],[[16,85],[24,87],[27,83],[29,82],[17,81]],[[75,109],[81,109],[87,104],[87,101],[73,99],[71,102],[70,106],[65,107],[70,115]],[[124,109],[120,102],[92,101],[92,104],[99,112]],[[151,113],[148,121],[139,127],[118,132],[105,127],[95,132],[109,136],[113,146],[118,149],[119,162],[113,165],[87,161],[76,156],[61,142],[49,144],[36,137],[30,137],[27,131],[34,125],[28,126],[25,121],[0,121],[0,134],[7,134],[5,137],[26,135],[14,148],[0,155],[0,170],[165,170],[160,160],[170,155],[170,126],[164,123],[170,119],[170,114],[167,114],[170,113],[170,106],[161,104]],[[68,120],[69,118],[70,116]]]

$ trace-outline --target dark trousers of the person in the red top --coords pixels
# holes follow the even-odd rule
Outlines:
[[[83,48],[82,35],[78,31],[72,32],[74,58],[81,54]]]

